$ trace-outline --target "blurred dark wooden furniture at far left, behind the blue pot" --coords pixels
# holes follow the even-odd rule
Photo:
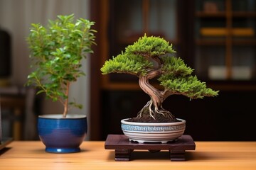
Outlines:
[[[14,140],[33,140],[37,137],[36,112],[34,110],[36,90],[19,86],[0,87],[1,111],[7,111]],[[6,113],[7,113],[6,112]],[[2,120],[4,117],[2,117]]]

